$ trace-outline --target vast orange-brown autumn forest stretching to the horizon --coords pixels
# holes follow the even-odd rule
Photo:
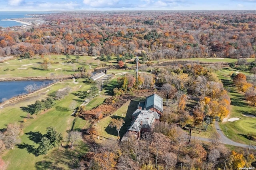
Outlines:
[[[46,24],[0,30],[0,56],[142,56],[144,52],[148,60],[249,58],[256,51],[254,16],[254,11],[48,14]]]

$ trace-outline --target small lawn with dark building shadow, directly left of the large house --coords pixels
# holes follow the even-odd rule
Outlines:
[[[122,136],[127,132],[128,128],[130,127],[130,123],[132,121],[132,113],[137,109],[138,103],[138,99],[128,101],[112,115],[101,119],[100,123],[96,123],[96,126],[94,125],[97,132],[97,135],[95,135],[96,141],[102,142],[103,138],[113,138],[114,140],[117,140],[118,132],[115,128],[109,127],[109,123],[112,119],[120,118],[124,119],[125,121],[124,126],[122,126],[120,130],[120,137],[122,138]],[[100,138],[97,139],[97,136],[100,136]]]

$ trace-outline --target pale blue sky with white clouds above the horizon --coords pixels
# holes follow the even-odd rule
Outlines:
[[[14,10],[256,10],[256,0],[0,0]]]

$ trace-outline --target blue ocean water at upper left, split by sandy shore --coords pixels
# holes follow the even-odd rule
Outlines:
[[[50,14],[52,12],[27,12],[27,11],[0,11],[0,27],[12,27],[12,26],[22,26],[24,24],[15,22],[15,21],[2,21],[6,19],[15,19],[15,18],[29,18],[31,16],[26,16],[30,14]]]

